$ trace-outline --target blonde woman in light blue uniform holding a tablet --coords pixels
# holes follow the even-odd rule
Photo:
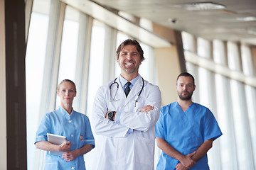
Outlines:
[[[76,88],[73,81],[64,79],[57,89],[60,107],[46,113],[36,132],[36,148],[47,151],[45,169],[85,169],[83,154],[95,147],[89,118],[73,110]],[[67,137],[62,145],[53,145],[47,133]],[[61,156],[48,151],[64,152]]]

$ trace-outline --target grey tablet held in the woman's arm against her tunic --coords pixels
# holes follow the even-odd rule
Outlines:
[[[67,137],[60,136],[60,135],[55,135],[55,134],[51,134],[51,133],[47,133],[47,139],[48,139],[48,142],[50,142],[50,143],[52,143],[54,145],[61,145],[64,142],[67,142]],[[49,151],[49,153],[61,156],[64,152]]]

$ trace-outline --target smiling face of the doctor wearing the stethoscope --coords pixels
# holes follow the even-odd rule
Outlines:
[[[135,78],[139,74],[139,65],[142,64],[142,59],[135,45],[125,45],[119,53],[117,62],[121,67],[122,77],[129,74]]]

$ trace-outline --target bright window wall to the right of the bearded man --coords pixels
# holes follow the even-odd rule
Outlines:
[[[182,33],[182,37],[184,49],[197,51],[195,55],[198,59],[206,57],[212,60],[213,65],[226,67],[225,70],[230,70],[230,73],[238,72],[236,76],[240,76],[240,72],[244,77],[253,75],[250,47],[220,40],[210,42],[202,38],[195,41],[193,35],[188,33]],[[216,110],[213,114],[223,132],[208,152],[210,169],[253,169],[256,160],[255,88],[247,85],[246,81],[228,77],[226,73],[210,72],[207,65],[187,62],[186,68],[198,78],[196,93],[199,93],[200,103],[211,111]]]

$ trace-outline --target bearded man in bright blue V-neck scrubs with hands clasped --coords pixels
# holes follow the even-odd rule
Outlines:
[[[163,152],[157,170],[209,169],[206,153],[222,132],[213,113],[192,102],[195,89],[193,76],[181,73],[176,81],[178,101],[161,108],[156,142]]]

